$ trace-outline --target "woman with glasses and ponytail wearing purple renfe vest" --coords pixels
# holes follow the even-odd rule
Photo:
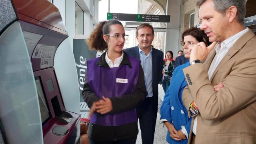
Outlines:
[[[122,49],[126,35],[118,20],[100,22],[86,41],[90,49],[107,50],[87,61],[82,96],[90,108],[90,144],[135,144],[136,106],[147,96],[140,61]]]

